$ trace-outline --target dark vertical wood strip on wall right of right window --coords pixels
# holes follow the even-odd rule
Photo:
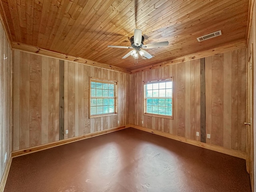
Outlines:
[[[200,68],[201,68],[201,104],[200,104],[200,116],[201,116],[201,142],[206,143],[206,119],[205,119],[205,66],[204,66],[204,58],[200,59]]]

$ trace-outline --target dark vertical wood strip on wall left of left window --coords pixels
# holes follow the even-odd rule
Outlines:
[[[60,113],[59,113],[59,139],[64,139],[64,60],[60,60],[60,92],[59,92],[59,102],[60,102]]]

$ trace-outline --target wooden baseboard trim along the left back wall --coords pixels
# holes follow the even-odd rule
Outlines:
[[[26,148],[24,150],[14,151],[14,152],[12,152],[12,157],[18,157],[18,156],[22,156],[22,155],[25,155],[25,154],[38,152],[38,151],[41,151],[41,150],[45,150],[45,149],[53,148],[53,147],[56,147],[56,146],[72,143],[72,142],[75,142],[75,141],[84,140],[86,138],[91,138],[91,137],[111,133],[111,132],[118,131],[118,130],[121,130],[121,129],[125,129],[125,128],[128,128],[128,127],[130,127],[130,124],[125,125],[125,126],[112,128],[112,129],[108,129],[108,130],[95,132],[95,133],[90,133],[90,134],[86,134],[86,135],[82,135],[82,136],[77,136],[77,137],[73,137],[73,138],[69,138],[69,139],[65,139],[65,140],[60,140],[60,141],[56,141],[56,142],[52,142],[52,143],[48,143],[48,144],[44,144],[44,145],[40,145],[40,146],[36,146],[36,147]]]

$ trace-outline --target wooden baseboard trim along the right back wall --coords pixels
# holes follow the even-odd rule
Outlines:
[[[158,131],[158,130],[152,130],[150,128],[141,127],[141,126],[137,126],[137,125],[134,125],[134,124],[131,124],[131,127],[135,128],[135,129],[142,130],[142,131],[150,132],[150,133],[153,133],[153,134],[156,134],[156,135],[171,138],[171,139],[174,139],[174,140],[178,140],[178,141],[181,141],[181,142],[185,142],[185,143],[188,143],[188,144],[192,144],[192,145],[195,145],[195,146],[199,146],[199,147],[202,147],[202,148],[206,148],[206,149],[209,149],[209,150],[213,150],[213,151],[216,151],[216,152],[220,152],[220,153],[235,156],[235,157],[238,157],[238,158],[246,159],[246,153],[244,153],[244,152],[239,152],[239,151],[236,151],[236,150],[227,149],[227,148],[220,147],[220,146],[215,146],[215,145],[211,145],[211,144],[207,144],[207,143],[202,143],[202,142],[195,141],[195,140],[192,140],[192,139],[187,139],[187,138],[184,138],[184,137],[176,136],[176,135],[173,135],[173,134],[170,134],[170,133],[165,133],[165,132]]]

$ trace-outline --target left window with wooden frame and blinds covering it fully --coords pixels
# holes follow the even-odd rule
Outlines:
[[[117,114],[117,82],[90,78],[90,118]]]

